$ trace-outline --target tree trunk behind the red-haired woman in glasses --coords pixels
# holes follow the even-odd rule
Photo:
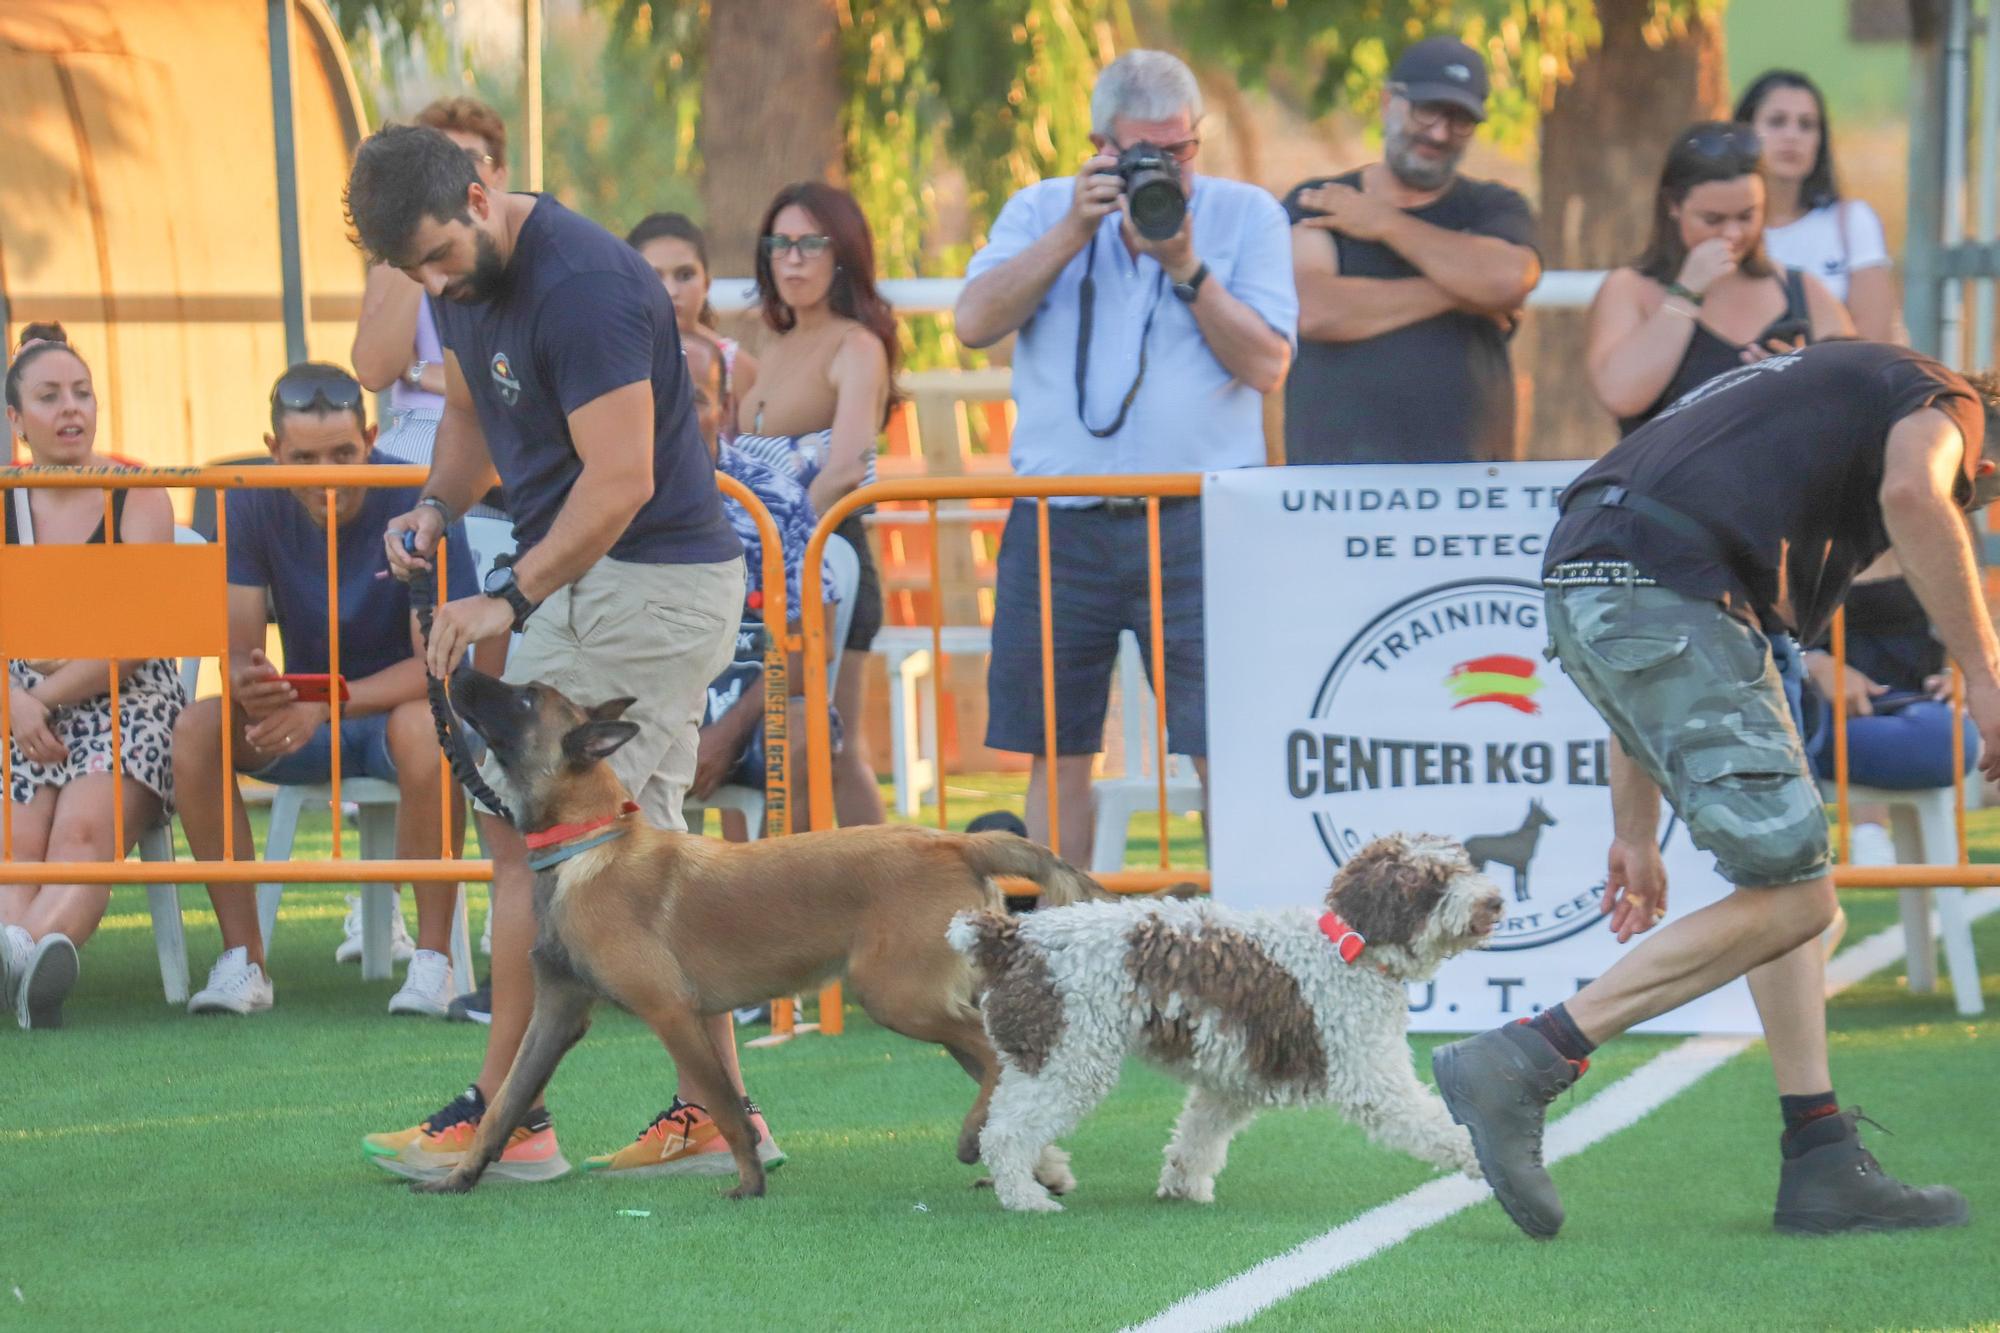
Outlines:
[[[756,226],[782,186],[844,180],[834,4],[712,0],[698,146],[716,274],[752,272]]]

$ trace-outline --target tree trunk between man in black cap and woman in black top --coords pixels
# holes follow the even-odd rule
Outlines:
[[[1604,44],[1542,118],[1544,268],[1630,262],[1652,230],[1652,194],[1674,136],[1694,120],[1728,116],[1720,18],[1690,16],[1660,44],[1648,42],[1648,30],[1662,36],[1654,0],[1598,0],[1598,20]],[[1524,454],[1594,458],[1616,426],[1582,372],[1582,310],[1538,310],[1526,332],[1522,370],[1534,402]]]

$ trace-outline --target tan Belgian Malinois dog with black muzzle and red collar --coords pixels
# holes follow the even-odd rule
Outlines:
[[[992,875],[1036,881],[1048,905],[1104,897],[1090,877],[1012,833],[874,827],[764,843],[666,833],[636,819],[604,763],[638,735],[620,719],[630,699],[584,709],[548,685],[460,669],[452,705],[494,753],[514,821],[540,849],[530,855],[534,1017],[464,1163],[414,1189],[478,1183],[598,1001],[644,1019],[682,1077],[728,1087],[702,1019],[832,977],[846,977],[870,1019],[942,1045],[978,1081],[958,1135],[958,1159],[978,1161],[1000,1061],[972,969],[944,931],[962,911],[1002,907]],[[708,1113],[736,1157],[728,1197],[762,1195],[756,1131],[736,1097],[720,1103]]]

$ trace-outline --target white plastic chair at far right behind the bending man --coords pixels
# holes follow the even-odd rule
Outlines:
[[[1838,799],[1832,781],[1820,783],[1820,795]],[[1966,807],[1980,801],[1978,775],[1966,779]],[[1898,865],[1950,865],[1958,857],[1958,817],[1952,811],[1950,787],[1920,791],[1890,791],[1848,783],[1848,803],[1886,805],[1890,841]],[[1972,921],[1966,915],[1964,889],[1898,889],[1902,903],[1902,939],[1910,991],[1928,995],[1938,989],[1938,937],[1944,941],[1944,965],[1952,975],[1952,999],[1962,1015],[1986,1013],[1980,995],[1980,963],[1972,953]],[[1932,931],[1930,907],[1936,897],[1938,929]]]

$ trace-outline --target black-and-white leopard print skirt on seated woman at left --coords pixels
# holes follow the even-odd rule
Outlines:
[[[26,662],[8,662],[10,687],[32,691],[46,677]],[[152,789],[162,807],[174,809],[174,719],[186,707],[180,673],[174,662],[154,656],[118,687],[118,751],[124,771]],[[56,709],[50,719],[56,739],[70,749],[60,765],[38,765],[8,741],[14,761],[14,783],[8,797],[26,805],[42,787],[66,787],[80,777],[112,771],[112,697],[110,693]]]

